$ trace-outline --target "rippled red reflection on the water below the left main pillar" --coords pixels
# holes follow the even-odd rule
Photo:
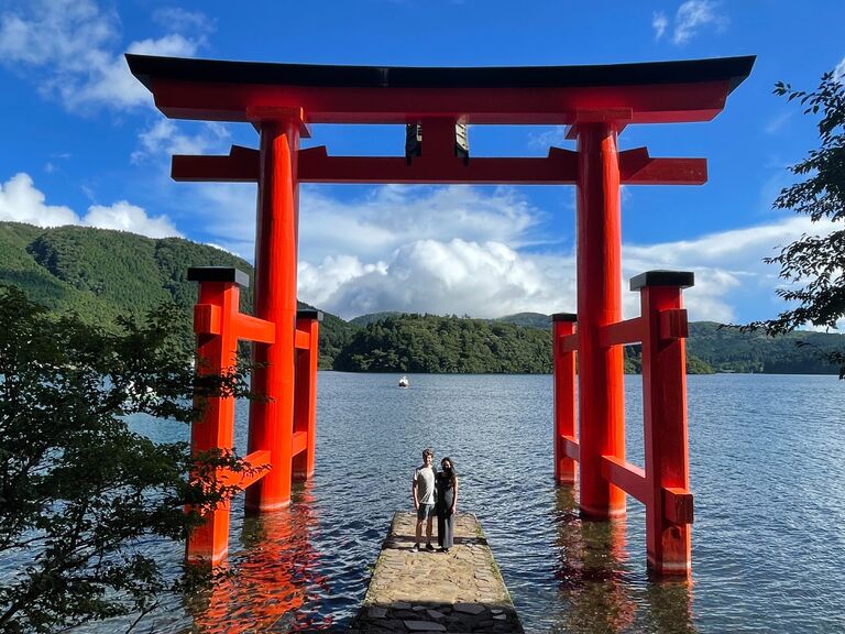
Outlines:
[[[328,630],[330,617],[310,608],[328,584],[316,572],[320,554],[311,546],[314,495],[306,483],[290,507],[246,517],[243,549],[230,551],[211,587],[187,599],[196,632],[238,634]]]

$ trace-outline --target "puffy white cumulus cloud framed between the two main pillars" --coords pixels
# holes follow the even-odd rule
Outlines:
[[[500,242],[417,240],[386,262],[347,256],[301,263],[299,297],[344,317],[378,310],[473,317],[573,310],[571,266],[560,263],[520,255]]]

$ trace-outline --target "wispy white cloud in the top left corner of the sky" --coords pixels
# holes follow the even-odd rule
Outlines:
[[[185,35],[173,26],[158,39],[121,43],[120,18],[92,0],[35,0],[0,13],[0,63],[37,84],[66,109],[125,110],[152,106],[149,91],[129,72],[123,50],[149,55],[193,56],[209,26],[194,15],[197,31]],[[197,25],[198,24],[198,25]]]

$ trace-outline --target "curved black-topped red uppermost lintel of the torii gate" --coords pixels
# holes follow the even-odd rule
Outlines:
[[[171,118],[250,121],[294,107],[312,123],[570,124],[579,110],[625,123],[706,121],[750,73],[754,56],[585,66],[400,67],[273,64],[128,54],[132,74]],[[629,110],[629,112],[628,112]]]

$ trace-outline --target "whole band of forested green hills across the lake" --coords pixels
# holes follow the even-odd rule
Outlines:
[[[179,238],[153,240],[84,227],[41,229],[0,222],[0,283],[14,284],[56,311],[75,310],[108,325],[120,314],[142,314],[165,300],[185,313],[190,345],[197,284],[190,266],[252,266],[213,247]],[[300,304],[300,307],[305,306]],[[252,289],[241,309],[252,311]],[[500,319],[378,313],[351,323],[325,314],[320,368],[385,372],[550,372],[548,315],[520,313]],[[845,349],[842,335],[793,332],[769,338],[700,321],[690,324],[688,371],[836,373],[824,352]],[[625,349],[626,371],[640,367],[639,347]]]

